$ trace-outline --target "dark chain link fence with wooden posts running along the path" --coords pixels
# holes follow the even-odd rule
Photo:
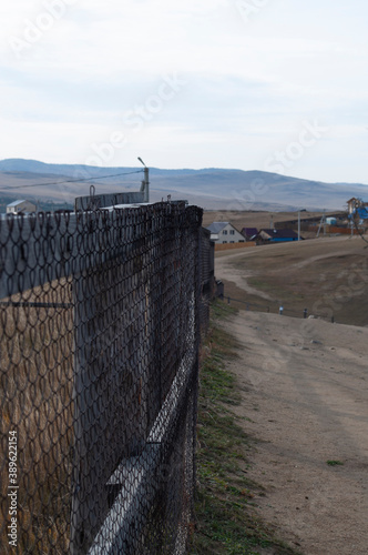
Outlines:
[[[1,553],[185,553],[201,223],[184,202],[0,220]]]

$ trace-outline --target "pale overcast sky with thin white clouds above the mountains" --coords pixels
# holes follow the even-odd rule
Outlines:
[[[0,159],[368,183],[365,0],[2,0]]]

